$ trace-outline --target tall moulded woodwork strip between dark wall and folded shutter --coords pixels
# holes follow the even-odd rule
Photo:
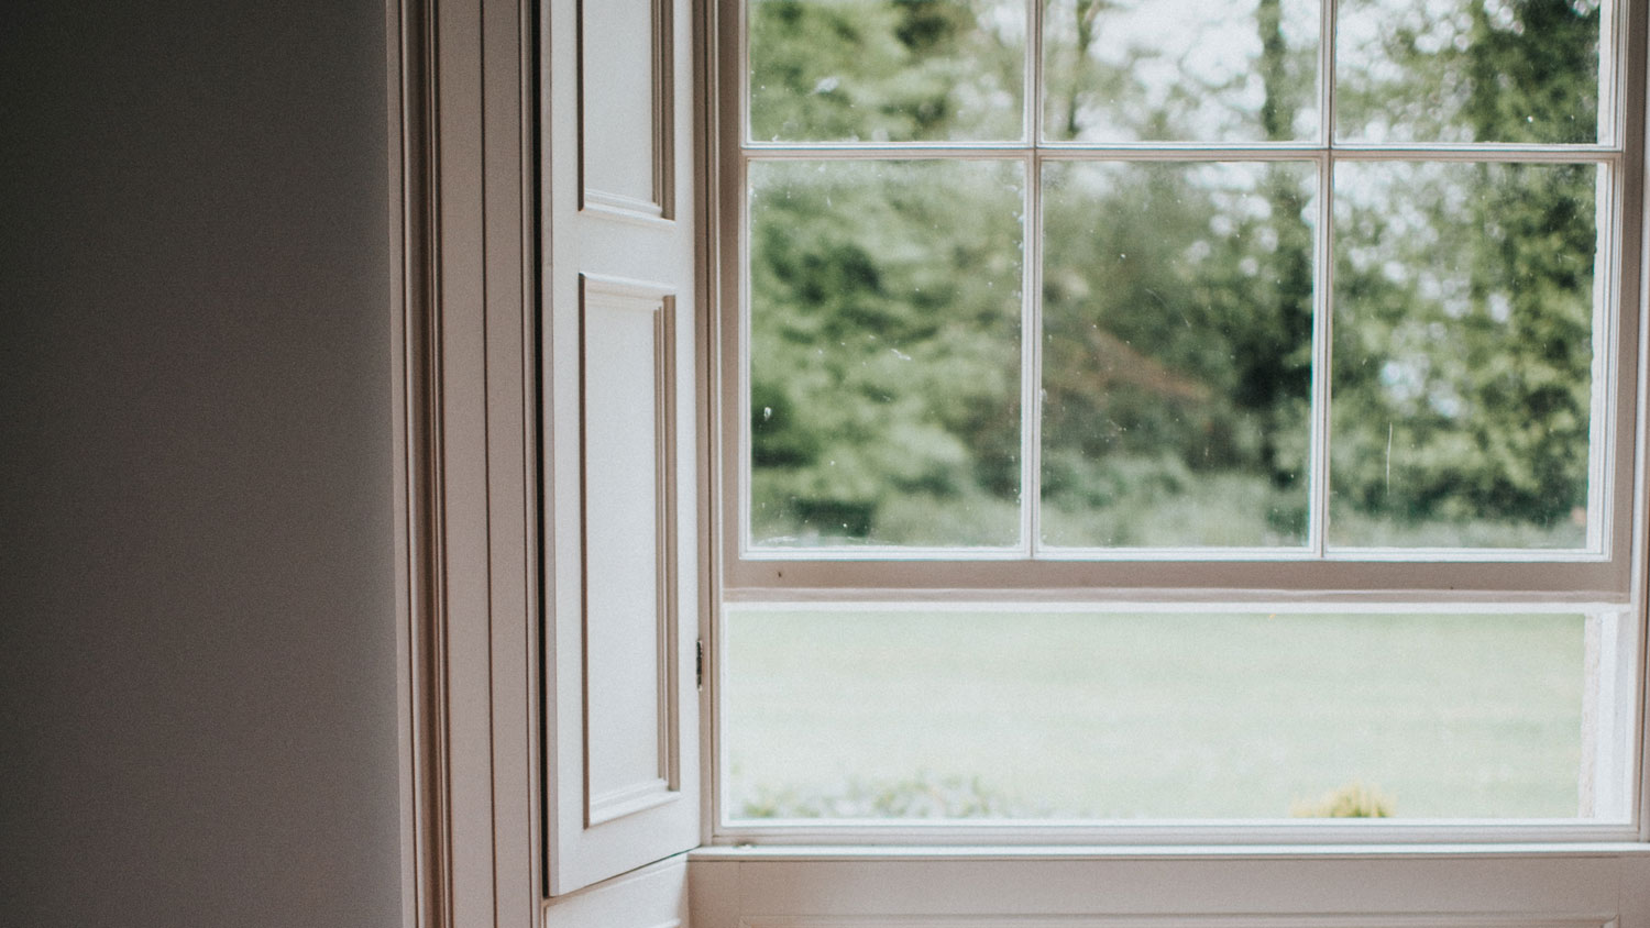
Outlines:
[[[531,28],[386,0],[409,928],[540,915]]]

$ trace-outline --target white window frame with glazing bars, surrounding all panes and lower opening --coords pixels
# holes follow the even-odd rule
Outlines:
[[[1643,836],[1645,816],[1642,783],[1645,743],[1635,733],[1642,727],[1645,689],[1643,654],[1645,623],[1640,595],[1638,560],[1645,557],[1643,458],[1645,440],[1640,427],[1645,391],[1645,363],[1640,312],[1643,290],[1640,257],[1643,221],[1629,221],[1642,213],[1643,196],[1643,68],[1625,63],[1642,59],[1642,0],[1612,5],[1612,16],[1602,23],[1600,82],[1615,92],[1600,94],[1600,142],[1597,145],[1455,145],[1455,143],[1336,143],[1332,137],[1332,81],[1318,87],[1318,110],[1323,115],[1318,137],[1305,143],[1077,143],[1038,142],[1041,105],[1026,94],[1025,132],[1018,143],[790,143],[749,138],[746,101],[749,66],[746,45],[746,10],[749,0],[713,0],[718,16],[718,89],[714,92],[716,165],[721,185],[714,196],[716,236],[721,252],[716,262],[719,366],[708,391],[723,410],[718,419],[719,483],[718,501],[721,537],[716,542],[719,574],[718,602],[808,603],[832,608],[842,603],[884,603],[917,608],[922,603],[949,607],[997,605],[1002,608],[1059,608],[1089,605],[1110,610],[1162,610],[1170,607],[1223,608],[1241,612],[1242,605],[1269,610],[1343,610],[1343,612],[1414,612],[1452,608],[1493,612],[1521,610],[1584,612],[1589,635],[1602,641],[1594,651],[1599,673],[1589,679],[1586,699],[1614,710],[1604,730],[1594,737],[1600,768],[1617,791],[1632,799],[1615,806],[1619,816],[1558,821],[1426,821],[1426,823],[1346,823],[1346,821],[1208,821],[1158,824],[1096,823],[736,823],[726,818],[726,796],[713,790],[706,796],[706,841],[718,846],[810,846],[863,842],[878,846],[1043,846],[1043,844],[1391,844],[1391,842],[1574,842],[1635,841]],[[1028,16],[1028,82],[1036,69],[1041,43],[1043,0],[1026,0]],[[1325,0],[1320,35],[1320,74],[1333,74],[1333,0]],[[1632,81],[1629,81],[1632,77]],[[1632,84],[1632,86],[1629,86]],[[1617,97],[1625,97],[1619,101]],[[1624,105],[1625,104],[1625,105]],[[1023,310],[1023,480],[1021,498],[1036,499],[1036,282],[1041,231],[1038,216],[1038,166],[1044,160],[1104,157],[1117,160],[1183,162],[1183,160],[1313,160],[1318,165],[1318,280],[1313,307],[1313,458],[1315,475],[1327,473],[1328,432],[1328,300],[1333,290],[1328,274],[1330,211],[1333,163],[1370,160],[1462,160],[1462,162],[1592,162],[1600,165],[1599,198],[1599,277],[1596,285],[1596,354],[1594,424],[1591,440],[1589,531],[1586,549],[1544,551],[1449,551],[1449,549],[1343,549],[1325,547],[1323,526],[1328,491],[1317,476],[1312,504],[1313,532],[1305,551],[1044,551],[1036,546],[1035,516],[1021,519],[1021,544],[1011,551],[924,551],[894,547],[853,549],[782,549],[756,547],[749,539],[749,371],[744,359],[749,344],[747,229],[749,196],[746,165],[756,160],[848,160],[848,158],[1018,158],[1026,170],[1030,208],[1026,209],[1026,282]],[[1637,170],[1629,170],[1637,166]],[[1619,341],[1617,341],[1619,340]],[[1635,361],[1637,359],[1637,361]],[[1026,404],[1031,404],[1030,407]],[[1635,440],[1635,437],[1640,437]],[[1607,490],[1605,490],[1607,485]],[[1614,504],[1604,506],[1609,496]],[[1035,513],[1035,504],[1023,506]],[[1028,524],[1030,523],[1030,524]],[[706,770],[710,783],[719,783],[721,704],[718,691],[723,610],[711,628],[708,719],[710,750]]]

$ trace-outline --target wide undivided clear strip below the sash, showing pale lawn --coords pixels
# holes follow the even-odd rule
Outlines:
[[[724,816],[1577,818],[1589,621],[729,610]]]

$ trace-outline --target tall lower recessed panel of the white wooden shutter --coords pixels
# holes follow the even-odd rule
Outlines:
[[[667,288],[582,282],[586,824],[670,801],[672,455]]]

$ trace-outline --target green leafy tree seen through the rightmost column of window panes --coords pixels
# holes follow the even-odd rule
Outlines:
[[[1439,87],[1436,114],[1383,132],[1592,140],[1597,38],[1597,7],[1566,0],[1402,20],[1381,40],[1402,81],[1353,82],[1350,112],[1370,119],[1379,99]],[[1338,204],[1338,523],[1355,542],[1577,544],[1596,168],[1358,165],[1345,176],[1371,195]]]

